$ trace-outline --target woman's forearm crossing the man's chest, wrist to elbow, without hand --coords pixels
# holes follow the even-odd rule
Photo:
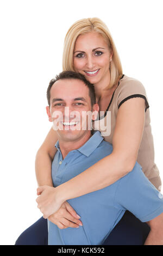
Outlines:
[[[118,161],[117,161],[118,160]],[[133,167],[123,157],[112,153],[90,168],[57,187],[57,198],[61,202],[101,190],[129,173]],[[73,189],[72,189],[73,188]]]

